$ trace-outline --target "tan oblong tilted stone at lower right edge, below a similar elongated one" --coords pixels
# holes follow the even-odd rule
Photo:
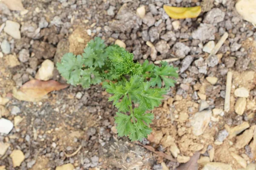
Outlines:
[[[241,149],[253,139],[253,129],[247,129],[241,135],[236,137],[236,148]]]

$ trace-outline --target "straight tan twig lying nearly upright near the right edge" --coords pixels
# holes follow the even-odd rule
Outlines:
[[[230,110],[231,85],[232,85],[232,72],[229,71],[227,73],[226,94],[225,94],[225,103],[224,103],[224,111],[226,112]]]

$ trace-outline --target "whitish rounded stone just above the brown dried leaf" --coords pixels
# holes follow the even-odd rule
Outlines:
[[[53,70],[54,70],[54,63],[51,60],[46,59],[42,63],[42,66],[39,68],[38,72],[36,73],[35,78],[43,81],[52,79]]]

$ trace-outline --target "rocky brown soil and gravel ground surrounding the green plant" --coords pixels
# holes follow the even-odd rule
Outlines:
[[[235,0],[23,0],[22,11],[4,2],[0,170],[174,170],[198,151],[199,169],[254,166],[256,28]],[[164,4],[203,11],[173,20]],[[179,68],[177,85],[153,111],[148,139],[131,143],[116,135],[115,109],[101,85],[69,86],[37,102],[14,97],[13,88],[34,78],[64,83],[56,62],[69,51],[81,54],[93,37],[107,45],[119,40],[140,62],[171,59]]]

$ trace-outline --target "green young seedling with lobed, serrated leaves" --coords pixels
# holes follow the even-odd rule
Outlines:
[[[74,86],[89,88],[103,82],[106,91],[113,94],[108,101],[113,101],[118,109],[115,117],[118,135],[141,141],[152,131],[149,124],[154,115],[148,111],[161,104],[163,94],[175,85],[176,81],[170,77],[178,74],[177,68],[167,62],[161,62],[159,67],[145,60],[141,65],[133,58],[124,48],[105,47],[104,41],[96,37],[82,55],[64,54],[57,69]]]

